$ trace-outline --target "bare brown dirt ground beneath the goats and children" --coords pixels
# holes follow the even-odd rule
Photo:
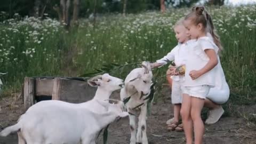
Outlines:
[[[183,132],[167,132],[166,120],[173,116],[169,89],[163,90],[162,98],[158,99],[147,119],[147,135],[150,144],[186,143]],[[239,106],[236,114],[222,117],[219,122],[206,125],[204,143],[207,144],[235,144],[256,143],[256,126],[246,121],[246,114],[256,113],[256,106]],[[0,98],[0,130],[6,126],[16,123],[23,114],[23,103],[21,98]],[[129,119],[123,118],[118,122],[110,124],[108,131],[108,143],[129,143],[130,130]],[[0,144],[18,143],[17,134],[0,137]],[[103,143],[100,136],[97,143]]]

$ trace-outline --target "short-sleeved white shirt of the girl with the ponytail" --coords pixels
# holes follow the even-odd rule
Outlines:
[[[209,85],[211,87],[215,86],[215,77],[217,76],[217,67],[198,77],[197,79],[192,80],[189,76],[191,70],[202,69],[209,58],[207,57],[204,50],[213,49],[215,53],[218,53],[218,46],[215,45],[211,37],[201,37],[198,38],[194,45],[188,47],[187,60],[185,62],[186,72],[185,79],[183,83],[184,86],[198,86],[198,85]]]

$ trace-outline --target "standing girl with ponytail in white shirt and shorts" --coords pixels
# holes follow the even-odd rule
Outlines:
[[[188,29],[190,38],[196,39],[196,43],[189,46],[185,62],[186,73],[182,85],[180,113],[186,143],[193,143],[194,128],[195,144],[202,144],[204,123],[201,111],[206,95],[209,94],[211,87],[215,86],[215,76],[217,76],[215,66],[218,64],[217,53],[221,45],[218,36],[213,31],[211,16],[203,6],[193,7],[192,11],[186,15],[184,25]],[[207,31],[210,31],[214,43],[210,37],[206,36]]]

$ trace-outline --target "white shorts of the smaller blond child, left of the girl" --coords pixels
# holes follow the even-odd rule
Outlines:
[[[181,84],[179,81],[172,81],[172,104],[179,104],[182,102]]]

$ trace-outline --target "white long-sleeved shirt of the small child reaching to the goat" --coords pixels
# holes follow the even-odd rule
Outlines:
[[[157,60],[157,63],[161,63],[162,65],[166,65],[167,62],[173,61],[176,66],[185,65],[186,57],[187,57],[187,47],[191,46],[192,43],[195,43],[196,40],[192,39],[187,41],[186,43],[178,43],[171,52],[167,53],[162,59]],[[173,81],[183,81],[184,76],[171,76]]]

